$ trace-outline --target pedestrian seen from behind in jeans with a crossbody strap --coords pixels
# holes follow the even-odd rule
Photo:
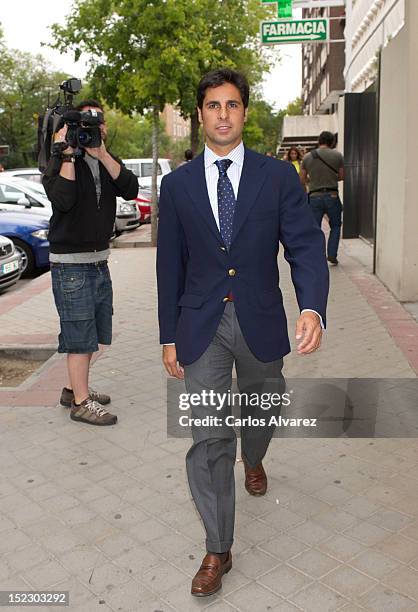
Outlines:
[[[334,143],[335,138],[331,132],[321,132],[318,148],[307,153],[302,160],[300,180],[305,189],[308,189],[309,203],[319,227],[323,216],[328,217],[330,234],[327,258],[336,266],[343,209],[338,195],[338,182],[344,180],[344,158],[333,148]]]

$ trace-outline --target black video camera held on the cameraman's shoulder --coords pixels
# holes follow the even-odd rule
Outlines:
[[[81,90],[80,79],[68,79],[60,85],[60,92],[53,105],[48,104],[44,115],[38,119],[38,167],[45,172],[51,157],[54,134],[67,125],[66,143],[75,150],[75,155],[83,155],[85,147],[97,148],[102,144],[100,125],[104,122],[103,113],[96,110],[80,112],[73,106],[73,98]],[[64,99],[61,99],[61,91]]]

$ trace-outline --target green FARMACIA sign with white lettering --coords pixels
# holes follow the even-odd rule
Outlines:
[[[261,42],[264,45],[329,40],[328,19],[278,19],[261,22]]]

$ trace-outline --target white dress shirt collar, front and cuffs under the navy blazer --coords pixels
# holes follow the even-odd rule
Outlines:
[[[227,175],[228,175],[229,180],[231,181],[232,189],[234,190],[235,199],[236,199],[238,196],[239,182],[241,180],[242,166],[244,164],[244,154],[245,154],[245,148],[244,148],[244,143],[242,141],[239,143],[238,146],[235,147],[235,149],[232,149],[232,151],[230,151],[228,155],[224,155],[223,157],[221,157],[220,155],[217,155],[216,153],[212,151],[212,149],[209,149],[209,147],[205,145],[204,164],[205,164],[206,186],[208,190],[210,205],[212,207],[213,216],[215,217],[215,221],[216,221],[216,225],[218,226],[218,229],[219,229],[219,212],[218,212],[219,170],[215,162],[218,161],[218,159],[230,159],[232,161],[232,164],[229,166],[227,170]],[[315,314],[317,314],[321,321],[321,327],[322,329],[324,328],[322,317],[319,314],[319,312],[316,312],[316,310],[312,310],[311,308],[304,308],[302,312],[314,312]],[[170,345],[167,344],[165,346],[171,346],[172,344],[174,344],[174,342],[170,343]]]

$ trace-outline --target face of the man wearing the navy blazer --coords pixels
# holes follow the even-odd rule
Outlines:
[[[232,150],[241,142],[247,109],[235,85],[224,83],[208,88],[198,112],[209,147]]]

